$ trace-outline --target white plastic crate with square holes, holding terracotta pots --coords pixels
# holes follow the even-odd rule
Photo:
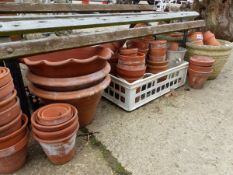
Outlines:
[[[188,62],[158,74],[145,74],[143,79],[133,83],[111,75],[112,81],[103,96],[125,109],[132,111],[186,82]]]

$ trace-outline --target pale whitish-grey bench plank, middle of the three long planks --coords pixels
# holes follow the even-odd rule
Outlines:
[[[122,15],[122,16],[101,16],[83,17],[68,19],[48,19],[48,20],[24,20],[0,22],[0,36],[53,32],[60,30],[72,30],[82,28],[92,28],[101,26],[132,24],[137,22],[156,22],[161,20],[174,20],[193,18],[198,16],[197,12],[174,12],[165,14],[143,14],[143,15]]]

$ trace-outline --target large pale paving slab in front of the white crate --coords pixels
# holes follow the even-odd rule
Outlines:
[[[233,55],[202,90],[182,87],[125,112],[102,100],[88,126],[133,175],[233,172]]]

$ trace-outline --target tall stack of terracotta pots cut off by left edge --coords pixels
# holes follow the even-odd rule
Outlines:
[[[25,164],[27,123],[10,71],[0,67],[0,173],[12,173]]]

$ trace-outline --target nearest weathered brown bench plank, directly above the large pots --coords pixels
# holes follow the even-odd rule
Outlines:
[[[182,31],[205,26],[204,20],[163,24],[132,29],[117,29],[116,31],[93,32],[92,34],[52,37],[38,40],[17,41],[0,44],[0,59],[9,59],[25,55],[46,53],[99,43],[113,42],[130,38],[161,34],[172,31]]]

